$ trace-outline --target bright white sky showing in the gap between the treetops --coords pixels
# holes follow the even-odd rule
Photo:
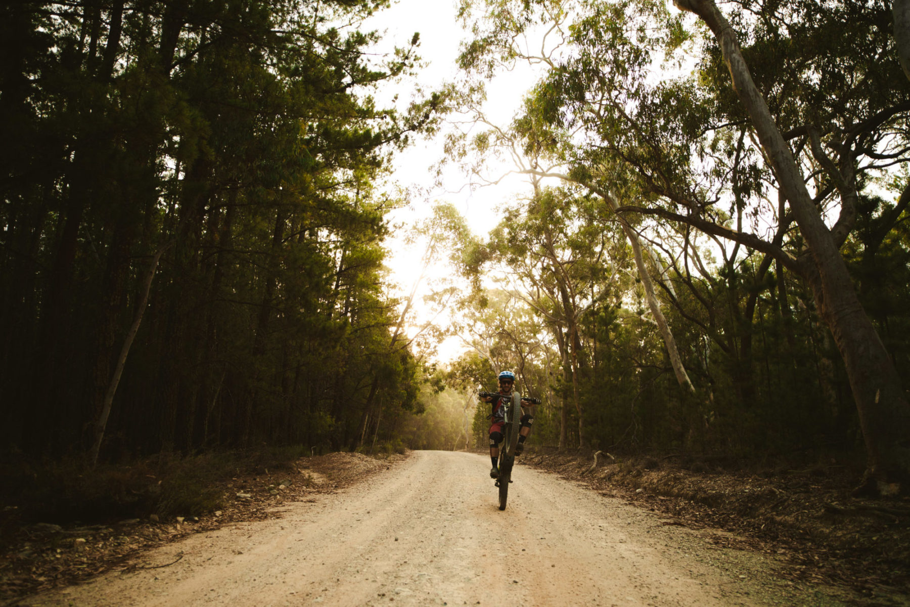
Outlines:
[[[438,88],[444,82],[456,79],[458,69],[455,59],[459,53],[460,42],[466,37],[456,18],[456,0],[399,0],[391,8],[380,11],[369,20],[369,29],[385,30],[385,44],[407,46],[414,32],[420,32],[418,53],[429,65],[420,70],[417,80],[425,91]],[[511,116],[521,103],[522,93],[534,81],[530,68],[516,70],[498,77],[488,85],[488,98],[491,100],[485,112],[497,124],[508,124]],[[430,209],[436,202],[449,202],[459,209],[468,220],[471,230],[482,237],[499,222],[496,207],[504,200],[509,200],[519,192],[527,191],[526,181],[521,177],[511,176],[503,179],[497,186],[481,187],[473,192],[466,186],[467,177],[456,167],[450,167],[443,175],[442,187],[432,187],[434,170],[432,165],[443,156],[442,137],[423,140],[400,154],[395,161],[393,177],[401,187],[418,186],[429,189],[429,195],[411,200],[409,208],[401,209],[392,216],[393,222],[404,222],[407,225],[430,215]],[[511,167],[503,167],[503,172]],[[402,235],[399,235],[403,236]],[[413,281],[420,275],[423,246],[418,244],[408,247],[399,238],[394,238],[389,247],[392,257],[388,260],[393,278],[399,284],[402,296],[410,293]],[[446,268],[435,268],[434,272],[448,271]],[[419,290],[415,300],[417,323],[428,319],[422,309],[420,297],[427,289]],[[424,312],[421,314],[421,312]],[[444,322],[445,319],[438,319]],[[411,331],[413,333],[413,330]],[[437,359],[445,362],[456,358],[462,348],[458,339],[448,339],[440,344]]]

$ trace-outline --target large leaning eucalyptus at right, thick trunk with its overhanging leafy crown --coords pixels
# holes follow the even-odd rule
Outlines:
[[[557,37],[516,121],[526,146],[627,221],[740,243],[811,286],[864,430],[864,489],[899,490],[888,483],[910,473],[910,406],[840,250],[864,190],[910,159],[910,91],[885,3],[773,0],[724,13],[712,0],[676,2],[708,36],[647,0],[464,4],[485,13],[465,66],[528,58],[521,36],[533,27]],[[905,181],[897,192],[881,211],[885,234],[910,202]],[[741,207],[751,225],[733,227]]]

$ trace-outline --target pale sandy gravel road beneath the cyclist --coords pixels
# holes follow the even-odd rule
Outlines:
[[[520,466],[499,511],[480,455],[416,451],[283,518],[148,552],[24,605],[837,604],[774,578],[773,557],[719,550],[706,531]],[[824,594],[824,593],[823,593]],[[813,597],[807,599],[806,597]]]

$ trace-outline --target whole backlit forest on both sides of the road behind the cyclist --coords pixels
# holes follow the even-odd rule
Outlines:
[[[878,433],[871,469],[905,478],[891,3],[720,4],[772,126],[731,86],[713,3],[464,0],[460,80],[435,92],[409,79],[418,36],[373,52],[363,19],[384,4],[3,5],[7,459],[482,447],[476,391],[512,369],[542,400],[539,447],[863,460]],[[485,86],[519,64],[538,79],[497,124]],[[442,200],[394,227],[420,201],[380,184],[420,137],[473,186],[527,178],[498,226]],[[806,213],[848,288],[825,282]],[[429,293],[391,278],[395,232]],[[880,338],[859,357],[879,391],[838,291]],[[434,358],[447,336],[460,355]]]

